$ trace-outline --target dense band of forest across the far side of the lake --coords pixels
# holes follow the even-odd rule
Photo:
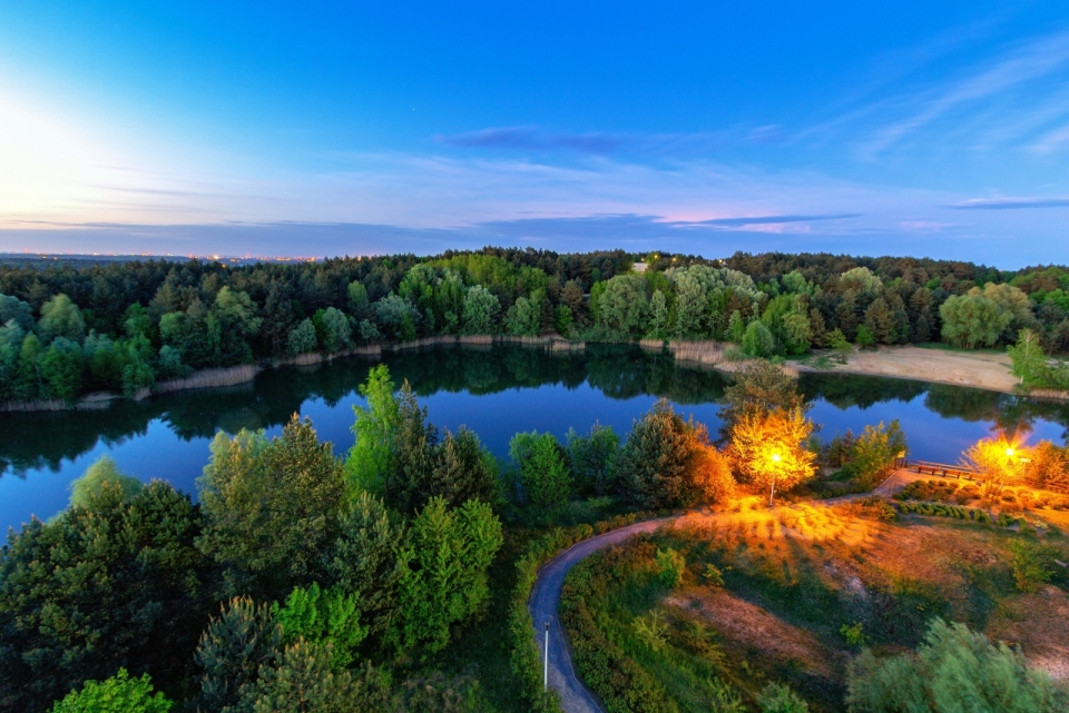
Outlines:
[[[774,356],[940,337],[994,346],[1021,329],[1046,354],[1067,350],[1069,269],[501,248],[244,266],[0,265],[0,400],[136,394],[204,368],[437,335],[717,339]]]

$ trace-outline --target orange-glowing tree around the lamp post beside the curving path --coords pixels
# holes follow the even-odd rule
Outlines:
[[[815,454],[804,444],[813,424],[801,408],[744,413],[732,429],[728,453],[744,477],[768,488],[768,505],[775,504],[776,488],[791,488],[815,473]]]

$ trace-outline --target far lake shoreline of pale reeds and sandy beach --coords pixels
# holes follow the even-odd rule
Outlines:
[[[255,364],[242,364],[232,367],[202,369],[182,379],[160,382],[151,388],[144,388],[133,397],[121,394],[97,392],[87,394],[77,402],[68,404],[59,399],[37,402],[8,402],[0,404],[0,413],[66,412],[107,409],[116,400],[133,398],[144,400],[153,396],[199,388],[226,388],[253,382],[261,373],[287,366],[316,366],[345,357],[381,359],[384,351],[398,353],[411,349],[440,347],[461,347],[468,349],[490,349],[494,345],[518,345],[542,348],[551,354],[572,354],[586,350],[588,343],[572,341],[558,335],[540,337],[513,337],[506,335],[479,336],[438,336],[424,337],[413,341],[371,344],[334,354],[310,353],[293,357],[264,359]],[[596,343],[591,343],[596,344]],[[709,340],[641,339],[635,344],[646,351],[667,351],[673,355],[677,366],[684,368],[715,369],[730,374],[746,365],[748,360],[729,360],[725,351],[729,345]],[[964,386],[1002,394],[1028,396],[1045,400],[1069,400],[1069,393],[1041,390],[1021,394],[1017,389],[1017,379],[1010,372],[1009,357],[1006,354],[970,354],[967,351],[925,349],[913,345],[881,346],[873,350],[854,350],[846,364],[816,366],[813,360],[831,357],[827,350],[811,353],[802,359],[792,359],[783,364],[791,376],[806,374],[853,374],[884,378],[911,379],[950,386]]]

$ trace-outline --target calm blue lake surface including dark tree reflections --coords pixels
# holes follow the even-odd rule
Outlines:
[[[396,383],[409,379],[430,420],[455,430],[467,425],[499,457],[518,430],[549,430],[594,423],[630,430],[631,420],[660,397],[716,434],[716,399],[724,379],[715,372],[677,367],[665,355],[637,347],[595,345],[583,354],[494,347],[406,351],[384,358]],[[374,364],[344,359],[321,368],[261,374],[232,389],[184,392],[104,412],[0,414],[0,529],[31,515],[48,518],[67,505],[69,483],[104,454],[143,481],[164,478],[195,493],[195,481],[218,430],[282,430],[288,417],[308,416],[336,454],[352,445],[356,387]],[[822,438],[846,428],[898,418],[911,456],[954,463],[971,442],[998,428],[1028,429],[1029,440],[1065,443],[1069,405],[954,386],[857,376],[804,376],[814,402],[810,416]]]

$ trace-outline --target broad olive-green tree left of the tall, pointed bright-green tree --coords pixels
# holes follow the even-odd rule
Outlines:
[[[226,568],[228,588],[277,596],[310,581],[345,492],[331,444],[294,414],[271,442],[263,432],[220,432],[210,448],[197,479],[207,521],[197,546]]]

